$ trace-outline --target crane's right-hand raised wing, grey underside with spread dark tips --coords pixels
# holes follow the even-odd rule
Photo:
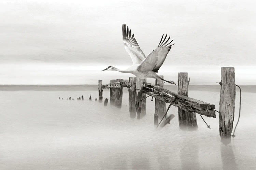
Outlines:
[[[163,35],[162,35],[161,41],[160,41],[159,45],[157,46],[157,48],[155,50],[153,50],[152,53],[148,54],[148,56],[140,64],[139,69],[141,71],[152,70],[154,72],[158,72],[159,68],[162,66],[167,54],[169,53],[169,51],[173,45],[173,44],[169,45],[172,43],[173,40],[171,40],[168,43],[171,36],[169,36],[169,38],[167,40],[166,40],[166,37],[167,37],[167,35],[163,39]],[[166,43],[168,43],[168,44],[166,44]]]

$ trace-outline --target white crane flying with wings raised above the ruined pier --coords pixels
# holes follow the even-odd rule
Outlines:
[[[129,30],[128,26],[126,28],[125,24],[123,24],[122,32],[123,32],[124,46],[127,53],[131,57],[133,65],[131,65],[129,68],[124,70],[120,70],[113,66],[109,66],[108,68],[105,68],[102,71],[111,70],[111,71],[119,71],[122,73],[131,73],[141,79],[143,78],[161,79],[168,83],[175,84],[173,81],[164,80],[159,75],[157,75],[157,72],[159,68],[162,66],[163,62],[165,61],[165,58],[169,53],[172,45],[174,45],[174,44],[171,44],[173,40],[168,42],[171,36],[169,36],[169,38],[166,40],[167,35],[165,36],[164,39],[162,35],[160,43],[158,44],[156,49],[153,50],[146,57],[145,54],[141,51],[136,39],[134,38],[134,34],[131,33],[131,30]]]

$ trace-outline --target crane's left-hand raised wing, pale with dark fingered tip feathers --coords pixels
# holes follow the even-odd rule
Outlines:
[[[131,34],[131,30],[123,24],[123,41],[124,46],[128,54],[131,56],[133,64],[140,64],[145,58],[145,54],[141,51],[134,34]]]

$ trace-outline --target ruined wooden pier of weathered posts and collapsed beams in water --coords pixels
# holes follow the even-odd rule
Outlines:
[[[236,86],[234,85],[234,68],[221,69],[221,95],[219,109],[219,134],[221,137],[230,137],[233,127],[234,99],[236,96]],[[102,102],[103,89],[110,89],[110,103],[116,107],[122,107],[123,88],[129,91],[129,112],[130,117],[138,119],[146,115],[146,95],[155,98],[156,118],[163,119],[165,113],[171,105],[178,107],[179,125],[181,129],[197,129],[196,113],[216,118],[215,105],[198,99],[188,97],[189,86],[188,73],[178,73],[177,93],[163,87],[162,80],[156,80],[155,84],[146,82],[146,79],[130,77],[129,80],[116,79],[110,83],[102,85],[99,80],[99,101]],[[166,109],[166,103],[171,103]],[[161,124],[165,126],[174,117],[166,117]]]

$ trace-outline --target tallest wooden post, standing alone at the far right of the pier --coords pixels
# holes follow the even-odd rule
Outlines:
[[[233,67],[221,68],[221,94],[219,99],[219,136],[230,138],[233,129],[236,99]]]

